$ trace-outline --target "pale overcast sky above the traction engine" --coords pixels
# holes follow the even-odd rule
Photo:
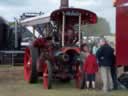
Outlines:
[[[115,32],[115,8],[112,0],[69,0],[71,7],[91,10],[104,17]],[[0,0],[0,16],[8,21],[19,17],[23,12],[51,12],[60,6],[60,0]]]

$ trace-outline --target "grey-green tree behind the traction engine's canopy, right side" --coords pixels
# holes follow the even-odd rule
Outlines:
[[[98,18],[96,24],[82,26],[84,36],[108,36],[111,35],[110,26],[105,18]]]

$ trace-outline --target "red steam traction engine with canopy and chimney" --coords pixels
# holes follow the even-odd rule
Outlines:
[[[34,28],[35,24],[42,24],[41,35],[34,37],[33,42],[25,50],[24,78],[29,83],[35,83],[38,77],[42,76],[46,89],[50,89],[53,80],[56,79],[74,79],[76,87],[82,88],[81,26],[97,21],[97,16],[93,12],[68,8],[68,0],[62,0],[62,5],[60,9],[53,11],[50,17],[43,15],[21,22],[23,26],[32,25]]]

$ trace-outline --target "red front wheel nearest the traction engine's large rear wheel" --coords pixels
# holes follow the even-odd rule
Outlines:
[[[45,89],[52,88],[52,67],[49,61],[43,65],[43,86]]]

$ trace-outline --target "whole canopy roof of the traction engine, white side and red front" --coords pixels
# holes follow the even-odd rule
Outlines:
[[[45,24],[50,21],[62,21],[63,12],[68,17],[67,21],[70,21],[70,23],[77,23],[80,14],[82,16],[82,24],[95,24],[97,22],[96,14],[91,11],[77,8],[63,8],[55,10],[52,13],[22,20],[21,24],[24,26],[34,26],[37,24]]]

